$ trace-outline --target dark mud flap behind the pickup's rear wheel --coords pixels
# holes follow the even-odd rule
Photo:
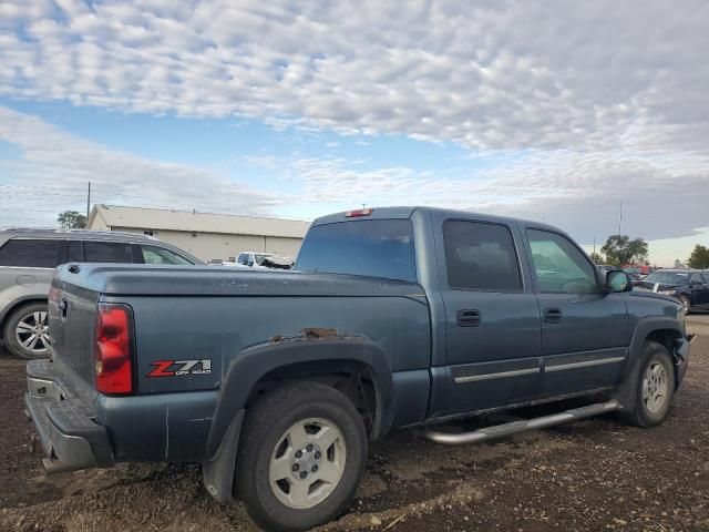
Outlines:
[[[224,439],[212,460],[202,464],[202,480],[209,494],[222,504],[232,502],[232,489],[236,470],[236,450],[244,421],[244,409],[239,410],[229,424]]]

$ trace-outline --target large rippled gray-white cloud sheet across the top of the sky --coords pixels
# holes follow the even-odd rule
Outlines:
[[[0,94],[484,149],[699,149],[701,1],[3,4]]]

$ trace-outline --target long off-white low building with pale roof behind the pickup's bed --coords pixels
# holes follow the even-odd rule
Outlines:
[[[295,258],[309,222],[162,208],[95,205],[86,227],[151,235],[207,262],[242,250]]]

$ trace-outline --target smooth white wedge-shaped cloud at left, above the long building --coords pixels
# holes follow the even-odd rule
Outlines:
[[[0,186],[0,225],[19,217],[51,225],[64,208],[81,211],[88,182],[100,203],[266,214],[285,202],[228,176],[111,150],[3,106],[0,141],[20,151],[18,158],[0,161],[14,177]]]

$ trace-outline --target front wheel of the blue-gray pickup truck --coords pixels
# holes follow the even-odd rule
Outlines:
[[[656,427],[667,417],[674,396],[675,365],[670,354],[661,344],[646,341],[643,346],[635,408],[630,412],[621,412],[621,419],[637,427]]]

